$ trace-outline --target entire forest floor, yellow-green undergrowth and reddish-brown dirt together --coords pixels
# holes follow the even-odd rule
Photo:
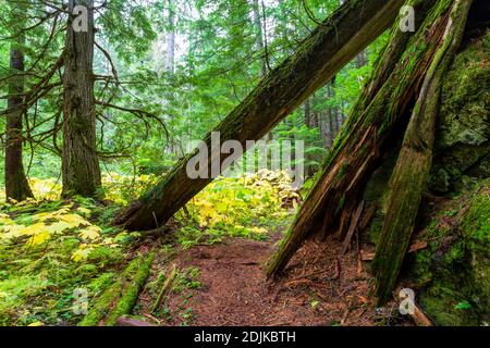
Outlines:
[[[37,200],[0,206],[0,326],[114,325],[126,313],[167,326],[409,323],[394,302],[375,307],[360,261],[372,250],[356,236],[344,256],[333,237],[311,239],[279,279],[266,279],[301,200],[283,174],[215,181],[172,233],[113,226],[154,179],[140,176],[130,190],[132,178],[107,177],[105,202],[61,200],[51,181],[34,181]]]

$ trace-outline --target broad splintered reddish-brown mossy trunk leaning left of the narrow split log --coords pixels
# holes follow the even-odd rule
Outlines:
[[[416,33],[393,28],[389,45],[377,62],[351,116],[335,140],[323,173],[298,212],[293,226],[269,262],[267,274],[282,271],[315,229],[343,236],[359,195],[389,136],[417,98],[438,52],[452,0],[414,0]],[[420,23],[420,21],[422,21]],[[340,228],[340,231],[339,231]]]

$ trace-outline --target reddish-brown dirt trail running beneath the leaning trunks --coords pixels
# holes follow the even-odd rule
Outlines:
[[[341,245],[333,238],[310,240],[291,261],[284,277],[267,282],[264,264],[279,236],[269,241],[230,238],[222,244],[181,251],[180,270],[199,269],[198,289],[171,294],[171,321],[161,325],[373,325],[369,275],[354,250],[338,258]],[[159,268],[157,263],[154,265]],[[170,265],[168,266],[168,269]],[[161,270],[161,268],[160,268]],[[191,296],[192,295],[192,296]],[[142,294],[148,312],[151,296]],[[185,313],[192,313],[185,315]]]

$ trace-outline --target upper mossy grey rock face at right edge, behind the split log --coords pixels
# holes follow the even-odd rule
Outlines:
[[[431,189],[448,192],[463,175],[490,173],[490,34],[460,52],[444,78]],[[477,170],[475,169],[477,167]],[[473,169],[473,171],[471,171]]]

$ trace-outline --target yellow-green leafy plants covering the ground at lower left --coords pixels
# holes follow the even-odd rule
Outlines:
[[[97,220],[89,199],[0,209],[0,325],[74,324],[73,291],[110,284],[133,240]],[[123,237],[124,236],[124,237]]]

